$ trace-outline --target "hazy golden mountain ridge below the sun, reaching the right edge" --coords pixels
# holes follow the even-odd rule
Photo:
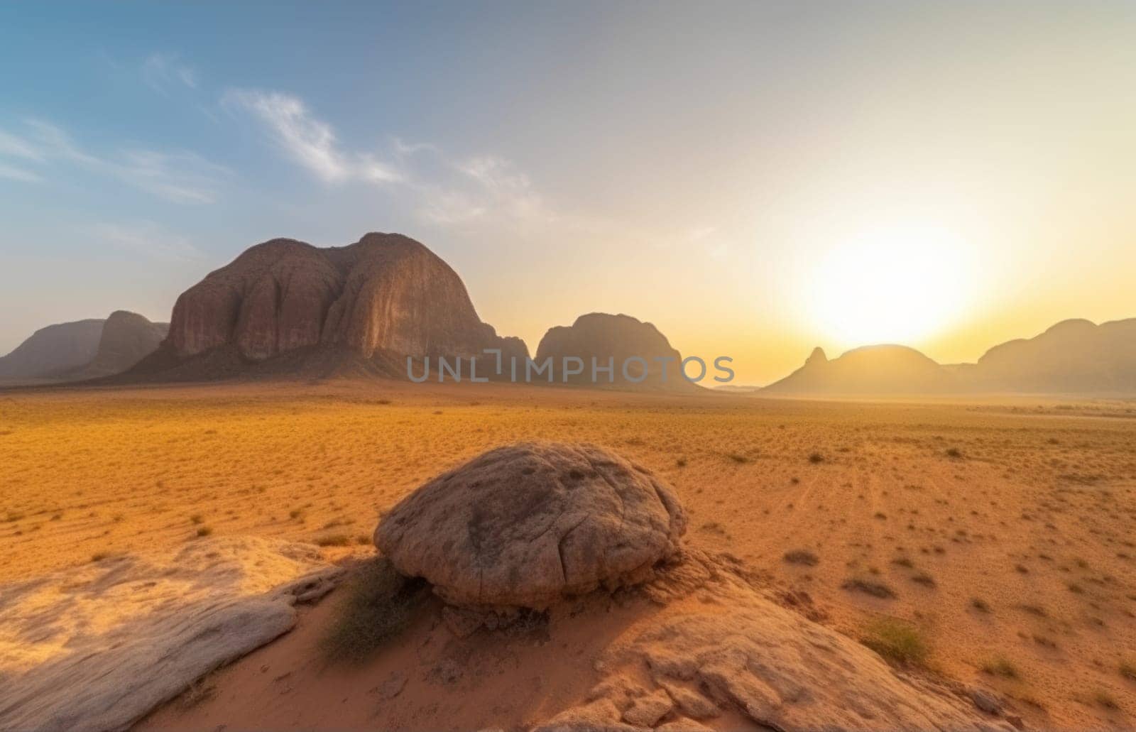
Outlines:
[[[770,394],[1133,393],[1136,318],[1062,321],[1030,339],[991,348],[976,364],[941,365],[905,346],[867,346],[804,366]]]

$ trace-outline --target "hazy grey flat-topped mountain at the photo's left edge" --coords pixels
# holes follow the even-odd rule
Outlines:
[[[0,379],[55,379],[86,365],[99,348],[105,321],[91,318],[42,327],[0,358]]]

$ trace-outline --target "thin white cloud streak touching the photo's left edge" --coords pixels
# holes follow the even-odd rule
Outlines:
[[[0,160],[0,175],[41,181],[53,165],[74,165],[107,175],[175,203],[211,203],[229,170],[184,150],[122,150],[95,155],[84,150],[62,127],[42,119],[25,120],[27,133],[0,130],[0,157],[36,164],[34,172]],[[24,164],[26,166],[26,163]]]

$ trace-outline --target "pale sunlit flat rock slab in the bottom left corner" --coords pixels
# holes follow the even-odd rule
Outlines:
[[[0,585],[0,729],[125,729],[340,574],[310,544],[226,536]]]

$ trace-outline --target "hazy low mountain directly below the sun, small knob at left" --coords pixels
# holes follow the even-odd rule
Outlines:
[[[763,391],[801,394],[919,394],[949,391],[957,380],[905,346],[866,346],[828,360],[817,348],[785,379]]]

